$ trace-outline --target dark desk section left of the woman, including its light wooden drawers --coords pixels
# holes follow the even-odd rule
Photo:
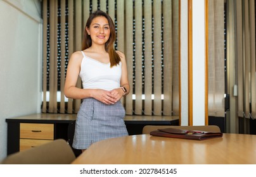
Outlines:
[[[7,154],[39,146],[58,138],[68,141],[68,125],[75,114],[32,114],[8,118]]]

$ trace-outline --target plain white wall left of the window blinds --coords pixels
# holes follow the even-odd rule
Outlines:
[[[5,119],[41,110],[40,9],[39,0],[0,0],[0,161],[7,154]]]

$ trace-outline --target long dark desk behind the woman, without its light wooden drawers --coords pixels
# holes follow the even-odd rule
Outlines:
[[[77,114],[31,114],[27,116],[20,116],[16,118],[8,118],[8,142],[7,154],[13,154],[20,150],[20,124],[34,123],[34,124],[52,124],[54,126],[53,139],[63,138],[70,140],[72,133],[68,135],[70,123],[74,123]],[[177,116],[125,116],[125,125],[129,135],[141,134],[143,126],[145,125],[179,125],[179,118]],[[76,150],[77,155],[80,150]]]

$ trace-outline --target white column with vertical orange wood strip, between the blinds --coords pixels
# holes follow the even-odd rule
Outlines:
[[[191,1],[192,4],[189,4],[189,1],[179,1],[179,3],[181,3],[180,68],[182,68],[180,124],[205,125],[205,1]],[[189,19],[188,8],[193,9],[192,20]],[[188,21],[193,23],[193,29],[189,28]],[[193,44],[190,44],[190,37]],[[193,87],[192,92],[189,87]],[[193,101],[192,104],[189,103],[189,97]]]

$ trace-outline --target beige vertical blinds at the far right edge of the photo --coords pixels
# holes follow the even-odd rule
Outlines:
[[[238,116],[256,119],[255,2],[236,2]]]

